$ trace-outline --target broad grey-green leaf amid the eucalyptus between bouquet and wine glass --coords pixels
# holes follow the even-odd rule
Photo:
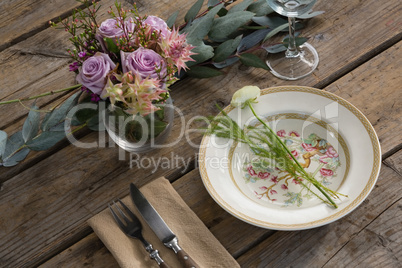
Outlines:
[[[249,22],[254,16],[254,13],[249,11],[238,11],[228,14],[224,17],[219,17],[214,20],[211,31],[208,36],[217,42],[226,41],[230,34]]]

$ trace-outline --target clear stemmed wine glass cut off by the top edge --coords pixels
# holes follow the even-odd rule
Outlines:
[[[297,80],[311,74],[318,65],[318,53],[309,43],[296,45],[296,17],[308,12],[317,0],[266,0],[277,13],[289,20],[289,44],[285,52],[268,53],[271,73],[285,80]]]

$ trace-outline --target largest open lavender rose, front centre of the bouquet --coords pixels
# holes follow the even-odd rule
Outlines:
[[[166,63],[155,51],[140,47],[131,53],[120,51],[123,72],[136,72],[142,78],[161,79],[166,75]],[[160,72],[157,72],[160,70]]]

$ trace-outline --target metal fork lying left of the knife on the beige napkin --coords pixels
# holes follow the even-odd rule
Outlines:
[[[120,203],[121,207],[124,209],[124,211],[119,207],[119,205],[115,201],[113,201],[112,204],[109,203],[108,207],[112,212],[113,218],[117,222],[117,225],[119,225],[123,233],[125,233],[127,236],[131,238],[136,238],[140,240],[144,245],[146,251],[149,252],[149,257],[151,259],[154,259],[160,267],[169,268],[169,266],[159,256],[158,250],[154,250],[152,245],[144,239],[142,235],[142,225],[137,216],[135,216],[134,213],[131,212],[131,210],[120,199],[117,200]],[[117,213],[115,212],[115,210],[113,210],[113,207],[116,208],[115,210],[117,211]],[[117,214],[119,214],[120,216],[117,216]]]

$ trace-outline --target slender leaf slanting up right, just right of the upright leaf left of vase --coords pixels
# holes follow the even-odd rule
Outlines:
[[[48,113],[43,119],[41,129],[42,131],[47,131],[52,127],[57,126],[62,121],[65,120],[68,111],[78,102],[78,96],[81,92],[77,92],[69,97],[64,103],[59,107]]]

